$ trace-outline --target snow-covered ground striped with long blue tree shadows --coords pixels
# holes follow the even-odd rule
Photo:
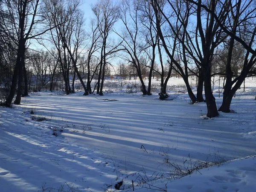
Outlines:
[[[31,93],[0,108],[0,192],[131,192],[132,180],[138,192],[256,191],[255,80],[235,113],[213,119],[175,90],[168,100],[82,94]]]

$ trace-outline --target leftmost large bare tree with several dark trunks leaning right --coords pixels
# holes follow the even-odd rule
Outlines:
[[[2,9],[9,15],[7,20],[2,20],[1,25],[6,29],[4,33],[12,40],[17,47],[16,64],[12,76],[12,85],[5,105],[10,106],[15,96],[18,80],[18,90],[15,99],[20,104],[22,94],[22,82],[25,80],[25,93],[27,95],[27,81],[25,68],[25,51],[28,48],[28,41],[44,34],[48,29],[39,29],[39,23],[44,22],[43,10],[39,0],[3,0]],[[24,77],[23,77],[24,76]]]

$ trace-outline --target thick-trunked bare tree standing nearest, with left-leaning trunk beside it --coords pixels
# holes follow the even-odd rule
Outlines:
[[[192,102],[195,101],[195,97],[192,94],[192,91],[189,87],[187,80],[187,72],[186,69],[189,69],[187,66],[187,58],[186,55],[189,55],[192,60],[194,60],[196,65],[199,65],[201,75],[204,76],[204,91],[205,91],[205,98],[207,103],[207,116],[208,117],[215,117],[218,116],[218,111],[215,103],[215,98],[212,94],[212,88],[211,88],[211,64],[212,64],[212,58],[215,52],[215,48],[223,41],[225,35],[221,32],[221,27],[218,22],[215,22],[214,17],[215,15],[211,14],[211,12],[203,12],[201,9],[201,6],[193,6],[194,4],[189,4],[187,1],[184,3],[181,2],[181,6],[184,5],[186,7],[187,14],[182,16],[183,13],[181,12],[182,9],[177,9],[177,6],[175,7],[177,1],[172,2],[171,0],[167,0],[169,5],[172,7],[173,13],[177,17],[177,23],[181,23],[182,28],[179,31],[177,31],[177,28],[173,26],[171,21],[169,20],[169,16],[166,15],[163,11],[163,9],[160,9],[158,0],[152,1],[153,5],[155,5],[155,11],[159,11],[163,14],[163,17],[165,17],[166,21],[169,23],[169,26],[172,30],[172,32],[178,37],[178,40],[180,44],[182,45],[182,51],[183,54],[182,62],[185,64],[185,73],[182,69],[180,69],[180,65],[175,63],[174,58],[171,57],[171,54],[168,54],[169,57],[174,61],[175,67],[177,67],[177,71],[180,73],[180,75],[183,77],[187,89],[189,92],[189,96],[192,99]],[[218,1],[219,2],[219,1]],[[201,5],[201,0],[198,0],[198,4]],[[178,4],[179,5],[179,4]],[[221,4],[222,5],[222,4]],[[218,15],[219,21],[221,23],[225,23],[227,19],[227,13],[224,12],[224,10],[227,7],[227,4],[223,4],[220,6],[217,4],[216,0],[209,0],[206,3],[206,7],[209,7],[208,9],[212,12],[216,13]],[[191,11],[192,9],[192,11]],[[193,11],[194,10],[194,11]],[[191,12],[193,14],[191,14]],[[187,30],[187,23],[188,19],[191,15],[196,15],[196,28],[195,36],[189,35],[189,30]],[[159,26],[159,30],[160,26]],[[160,38],[163,44],[165,44],[165,39],[163,38],[163,35],[161,35],[160,32]],[[200,39],[200,40],[199,40]],[[185,40],[185,41],[184,41]],[[186,44],[185,42],[190,42],[189,44]],[[195,45],[194,45],[195,42]],[[191,49],[192,47],[192,49]],[[165,48],[166,52],[169,52],[167,47]],[[190,70],[192,72],[192,70]]]

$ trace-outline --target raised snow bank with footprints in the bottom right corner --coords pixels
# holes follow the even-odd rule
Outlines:
[[[250,167],[249,167],[250,166]],[[235,160],[221,167],[210,167],[168,183],[172,192],[252,192],[255,190],[256,160]],[[195,185],[198,183],[198,185]]]

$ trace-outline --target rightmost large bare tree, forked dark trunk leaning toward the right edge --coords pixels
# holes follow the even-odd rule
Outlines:
[[[234,71],[233,61],[236,60],[238,63],[235,41],[235,35],[239,34],[240,38],[250,47],[253,47],[256,35],[256,7],[251,6],[253,1],[234,1],[230,3],[230,12],[229,12],[229,28],[233,33],[233,36],[230,36],[230,41],[228,44],[228,54],[226,61],[226,84],[224,87],[223,93],[223,102],[221,107],[218,109],[222,112],[230,112],[230,104],[236,90],[239,89],[244,79],[250,73],[250,70],[253,69],[253,66],[256,64],[256,55],[251,55],[250,51],[247,50],[244,55],[243,66],[241,68],[241,73],[238,75],[238,69]],[[234,4],[235,3],[235,4]],[[243,51],[240,47],[240,51]],[[235,79],[233,79],[235,77]]]

